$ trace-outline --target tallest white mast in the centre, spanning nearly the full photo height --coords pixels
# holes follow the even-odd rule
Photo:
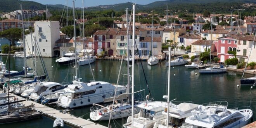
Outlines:
[[[133,3],[133,21],[132,21],[132,69],[131,69],[131,128],[133,128],[134,115],[134,47],[135,47],[135,3]]]

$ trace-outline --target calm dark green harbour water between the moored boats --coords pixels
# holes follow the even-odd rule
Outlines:
[[[3,62],[6,61],[6,56],[0,57]],[[51,81],[56,82],[68,82],[73,79],[74,68],[71,66],[59,66],[55,62],[55,58],[43,58],[45,65],[47,67],[47,72]],[[28,66],[32,67],[31,59],[27,59]],[[42,74],[42,69],[39,64],[39,59],[37,61],[38,73]],[[118,71],[121,61],[96,61],[93,63],[92,69],[95,80],[98,81],[108,81],[109,83],[116,83],[118,78]],[[156,66],[148,66],[147,62],[142,62],[146,74],[146,78],[149,84],[150,92],[155,100],[161,100],[163,95],[166,95],[167,90],[167,67],[164,62]],[[7,64],[8,65],[8,64]],[[135,63],[135,91],[145,89],[144,92],[140,93],[145,97],[148,94],[146,88],[145,79],[143,76],[142,68],[139,62]],[[23,59],[11,57],[10,67],[12,70],[21,71],[23,66]],[[53,67],[52,67],[53,66]],[[7,66],[8,67],[8,66]],[[123,62],[121,73],[125,74],[127,71],[126,62]],[[82,81],[93,80],[92,74],[90,72],[89,65],[81,66],[78,69],[79,77]],[[197,75],[195,74],[197,73]],[[175,76],[174,76],[175,74]],[[252,109],[256,110],[256,101],[254,97],[256,95],[256,89],[250,90],[250,87],[240,88],[236,87],[240,83],[239,79],[242,74],[237,74],[234,72],[228,72],[224,74],[199,74],[197,70],[189,70],[184,66],[178,66],[171,68],[171,96],[170,99],[177,100],[189,100],[197,104],[202,104],[205,102],[228,101],[228,108],[235,107],[235,92],[237,89],[237,106],[249,106],[250,100],[252,100]],[[251,75],[246,75],[246,77],[251,77]],[[127,78],[126,76],[121,76],[119,85],[125,85]],[[138,95],[138,94],[137,94]],[[51,106],[57,108],[56,106]],[[60,108],[57,108],[60,109]],[[83,107],[79,109],[72,110],[70,112],[75,116],[82,116],[85,119],[89,118],[90,106]],[[254,120],[256,119],[256,111],[253,112]],[[112,127],[121,127],[126,119],[119,119],[112,121]],[[100,121],[100,124],[107,126],[108,121]],[[8,125],[0,125],[0,127],[37,127],[45,128],[52,127],[53,120],[43,117],[40,119],[35,119],[31,121],[14,123]],[[69,126],[66,126],[69,127]]]

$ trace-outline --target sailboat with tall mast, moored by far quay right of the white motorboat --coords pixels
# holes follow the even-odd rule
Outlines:
[[[82,2],[83,2],[83,0],[82,0]],[[81,59],[78,60],[78,65],[79,66],[93,63],[96,59],[95,55],[90,54],[90,53],[93,52],[93,50],[90,50],[90,51],[87,52],[86,47],[85,47],[85,12],[84,12],[84,7],[83,7],[83,47],[84,47],[83,57],[81,57]]]

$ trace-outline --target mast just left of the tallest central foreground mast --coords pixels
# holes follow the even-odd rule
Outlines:
[[[127,33],[126,33],[126,39],[127,39],[127,90],[126,92],[130,93],[130,69],[129,69],[129,61],[130,61],[130,51],[129,51],[129,29],[128,29],[128,8],[126,8],[126,30],[127,30]],[[127,102],[130,103],[130,96],[128,97],[128,100]]]

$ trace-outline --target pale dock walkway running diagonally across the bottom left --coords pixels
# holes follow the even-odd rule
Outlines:
[[[10,94],[14,95],[14,94]],[[23,100],[23,97],[16,96],[19,100]],[[79,127],[79,128],[107,128],[106,126],[96,124],[95,122],[88,121],[86,119],[73,116],[68,113],[62,113],[59,110],[56,110],[52,107],[44,106],[42,104],[39,104],[37,102],[26,100],[22,102],[25,106],[29,106],[31,104],[35,104],[34,107],[31,107],[32,109],[35,109],[36,111],[40,111],[43,113],[44,116],[50,117],[52,119],[61,118],[63,119],[64,123],[67,125],[71,125],[72,127]]]

